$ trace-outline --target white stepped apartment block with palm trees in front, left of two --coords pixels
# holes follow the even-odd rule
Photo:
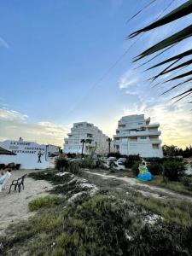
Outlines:
[[[71,132],[64,139],[63,152],[81,154],[81,140],[89,140],[89,143],[84,143],[84,154],[94,152],[96,154],[108,153],[108,136],[102,133],[98,127],[87,122],[74,123]]]

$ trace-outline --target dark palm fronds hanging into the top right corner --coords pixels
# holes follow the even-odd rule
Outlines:
[[[151,1],[143,9],[146,9],[149,5],[151,5],[154,2],[155,2],[155,0]],[[171,6],[172,3],[173,3],[173,1],[168,1],[166,9],[169,8],[169,6]],[[143,11],[143,9],[138,11],[136,15],[133,15],[131,17],[131,19],[136,17],[138,14],[140,14]],[[167,15],[164,15],[162,18],[155,20],[153,23],[149,24],[148,26],[145,26],[145,27],[137,30],[136,32],[132,32],[131,35],[129,36],[129,38],[134,38],[143,32],[148,32],[148,31],[154,30],[155,28],[159,28],[160,26],[165,26],[169,23],[174,22],[175,20],[180,20],[184,16],[191,15],[191,14],[192,14],[192,0],[189,0],[189,1],[186,1],[185,3],[181,4],[176,9],[173,9],[170,13],[168,13]],[[172,26],[174,26],[174,24]],[[183,40],[186,40],[187,38],[190,38],[190,37],[192,37],[192,24],[189,26],[185,26],[182,30],[175,32],[172,35],[166,37],[164,40],[160,41],[158,44],[154,44],[150,48],[145,49],[142,53],[137,55],[135,61],[146,58],[149,55],[153,55],[153,57],[150,60],[145,61],[143,63],[143,65],[145,65],[146,63],[154,60],[155,57],[164,53],[166,50],[171,49],[172,47],[175,47],[178,43],[180,43]],[[157,55],[154,55],[156,53],[157,53]],[[191,55],[192,55],[192,49],[183,50],[179,54],[172,55],[168,59],[161,58],[161,61],[159,63],[156,63],[155,65],[153,65],[152,67],[149,67],[147,69],[147,70],[150,70],[150,69],[153,69],[156,67],[159,68],[162,65],[166,64],[166,67],[164,67],[160,73],[157,73],[153,78],[151,78],[151,80],[154,81],[155,79],[161,78],[165,74],[166,75],[169,74],[169,75],[171,75],[171,78],[164,79],[163,82],[161,82],[161,83],[176,82],[176,84],[172,85],[171,88],[164,91],[162,93],[162,95],[167,93],[170,90],[175,90],[176,88],[178,88],[178,86],[180,88],[180,87],[183,87],[184,85],[186,85],[187,86],[186,89],[179,92],[177,94],[177,96],[172,97],[172,99],[176,99],[177,101],[179,101],[179,100],[183,99],[184,97],[192,96],[192,87],[189,86],[189,82],[191,83],[191,81],[192,81],[192,70],[191,70],[191,68],[190,69],[188,68],[192,64]],[[189,59],[183,61],[183,59],[186,57]],[[178,65],[176,64],[177,61],[179,61]],[[187,72],[183,71],[183,68],[188,68]],[[180,73],[175,75],[174,73],[172,73],[175,71],[180,72]],[[182,79],[182,80],[180,80],[180,79]],[[161,83],[158,83],[158,84],[161,84]],[[190,101],[189,103],[192,103],[192,102]]]

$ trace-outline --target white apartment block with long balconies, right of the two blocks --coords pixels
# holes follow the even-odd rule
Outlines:
[[[160,124],[150,124],[144,114],[128,115],[119,120],[114,146],[120,154],[140,154],[142,157],[163,157]]]

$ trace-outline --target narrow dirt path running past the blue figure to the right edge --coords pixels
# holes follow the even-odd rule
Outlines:
[[[102,177],[103,179],[115,179],[115,180],[128,183],[130,185],[130,188],[142,193],[144,196],[151,196],[154,198],[177,199],[177,200],[189,201],[192,203],[192,197],[188,195],[181,195],[169,189],[163,189],[163,188],[156,187],[154,185],[141,183],[137,181],[137,179],[134,177],[117,177],[114,175],[107,175],[107,174],[98,173],[98,172],[89,172],[89,171],[84,171],[84,172],[89,173],[91,175],[96,175],[98,177]]]

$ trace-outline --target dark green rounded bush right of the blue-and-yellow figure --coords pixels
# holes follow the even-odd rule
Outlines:
[[[163,178],[169,181],[178,181],[183,177],[185,166],[180,161],[167,161],[163,164]]]

